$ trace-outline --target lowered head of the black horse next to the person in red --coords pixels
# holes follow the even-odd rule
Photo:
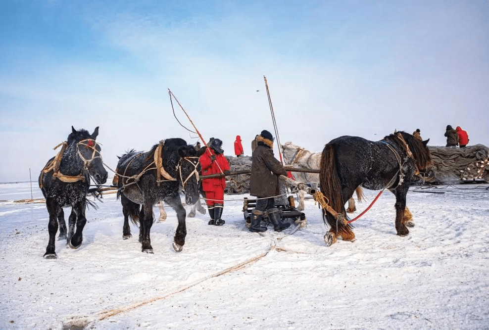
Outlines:
[[[195,204],[199,198],[198,174],[200,172],[199,158],[207,149],[206,146],[196,150],[193,145],[182,146],[178,149],[180,156],[178,180],[185,193],[185,202]]]

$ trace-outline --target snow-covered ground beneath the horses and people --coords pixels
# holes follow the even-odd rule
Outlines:
[[[11,201],[31,198],[29,183],[0,184],[0,328],[488,329],[488,187],[413,187],[406,237],[395,235],[385,191],[354,223],[356,241],[330,247],[313,200],[304,228],[262,236],[245,228],[247,195],[227,195],[226,225],[187,218],[180,253],[167,209],[151,228],[154,254],[141,252],[134,226],[122,239],[120,202],[108,194],[88,209],[81,247],[56,241],[58,258],[45,260],[46,206]],[[378,193],[364,192],[353,215]]]

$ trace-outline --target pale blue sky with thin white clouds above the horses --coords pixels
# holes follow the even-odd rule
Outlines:
[[[52,147],[99,126],[104,162],[159,140],[263,129],[321,151],[447,124],[489,145],[489,1],[0,2],[0,182],[36,180]],[[174,102],[175,104],[175,102]],[[190,123],[176,108],[179,120]]]

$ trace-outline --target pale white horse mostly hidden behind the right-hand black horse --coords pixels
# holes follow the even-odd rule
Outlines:
[[[287,167],[319,171],[321,152],[313,153],[292,142],[286,142],[282,145],[282,155],[284,157],[284,164]],[[292,175],[296,181],[304,184],[311,184],[314,188],[317,188],[319,185],[319,173],[292,172]],[[362,188],[358,187],[355,191],[358,201],[361,201],[363,199]],[[299,195],[299,205],[297,206],[297,210],[302,211],[304,209],[304,191],[299,189],[297,193]],[[348,208],[346,209],[346,212],[353,213],[355,211],[355,200],[352,197],[348,199]]]

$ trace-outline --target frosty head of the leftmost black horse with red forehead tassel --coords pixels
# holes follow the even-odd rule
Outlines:
[[[77,131],[73,126],[71,130],[67,139],[68,145],[76,142],[76,153],[83,162],[84,169],[99,185],[103,185],[107,181],[108,174],[103,167],[100,144],[95,141],[98,136],[98,126],[92,134],[84,129]]]

